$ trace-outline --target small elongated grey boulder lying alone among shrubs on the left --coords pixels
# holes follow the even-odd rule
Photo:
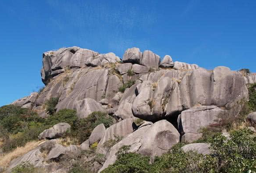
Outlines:
[[[68,123],[58,123],[50,129],[46,129],[42,133],[40,133],[38,139],[56,139],[62,137],[69,128],[70,125]]]

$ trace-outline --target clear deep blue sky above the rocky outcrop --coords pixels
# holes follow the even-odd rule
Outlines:
[[[255,0],[0,0],[0,106],[43,86],[42,53],[127,48],[256,72]]]

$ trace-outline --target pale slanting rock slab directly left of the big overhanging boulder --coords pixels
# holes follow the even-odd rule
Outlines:
[[[122,99],[119,102],[118,110],[115,112],[115,115],[122,118],[128,119],[133,118],[132,105],[134,102],[134,98],[136,97],[135,90],[139,83],[135,83],[129,89],[126,89]]]

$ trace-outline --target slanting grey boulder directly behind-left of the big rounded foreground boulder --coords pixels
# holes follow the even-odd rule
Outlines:
[[[134,119],[132,118],[124,119],[121,122],[108,127],[97,146],[97,152],[104,153],[105,142],[115,139],[116,137],[125,137],[126,135],[132,133],[136,127],[137,126],[134,123]]]

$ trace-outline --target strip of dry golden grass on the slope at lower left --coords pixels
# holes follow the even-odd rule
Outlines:
[[[3,155],[0,158],[0,166],[7,167],[13,159],[18,158],[18,157],[26,154],[27,152],[33,150],[41,142],[42,141],[31,141],[31,142],[28,142],[28,143],[26,143],[26,145],[24,147],[18,147],[15,150],[13,150],[13,151]]]

